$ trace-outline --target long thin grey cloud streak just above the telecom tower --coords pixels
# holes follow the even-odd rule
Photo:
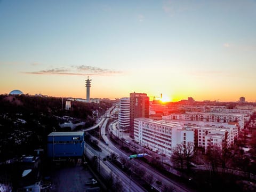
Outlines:
[[[121,74],[122,71],[103,69],[94,66],[71,66],[69,68],[53,68],[47,70],[39,71],[26,71],[22,72],[25,74],[35,74],[35,75],[98,75],[98,76],[108,76],[114,74]]]

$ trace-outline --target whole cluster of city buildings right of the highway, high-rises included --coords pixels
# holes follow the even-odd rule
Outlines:
[[[245,106],[243,97],[233,109],[210,103],[205,101],[204,105],[196,105],[196,101],[189,97],[179,105],[167,107],[159,102],[149,102],[146,93],[133,92],[130,98],[119,101],[119,128],[129,130],[130,137],[141,146],[167,156],[171,156],[180,143],[193,142],[194,147],[205,153],[211,149],[229,148],[256,108]]]

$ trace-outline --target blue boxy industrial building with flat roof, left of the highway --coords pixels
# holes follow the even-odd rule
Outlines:
[[[47,137],[47,156],[79,158],[84,153],[84,132],[52,132]]]

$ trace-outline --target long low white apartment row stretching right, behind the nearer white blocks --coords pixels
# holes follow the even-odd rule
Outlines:
[[[170,120],[177,119],[177,120],[220,122],[220,123],[237,122],[238,130],[244,129],[244,115],[241,115],[241,114],[186,112],[185,114],[166,115],[166,116],[162,116],[162,118],[170,119]]]

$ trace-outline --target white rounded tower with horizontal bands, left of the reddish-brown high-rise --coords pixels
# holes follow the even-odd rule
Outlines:
[[[130,98],[121,98],[118,113],[119,128],[129,130],[130,128]]]

